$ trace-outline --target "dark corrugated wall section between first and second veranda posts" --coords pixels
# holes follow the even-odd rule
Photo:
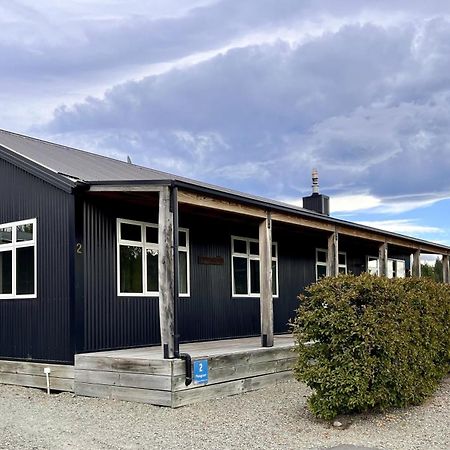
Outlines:
[[[260,333],[259,297],[232,297],[231,236],[258,237],[258,226],[180,213],[180,226],[189,228],[191,296],[180,298],[182,342],[251,336]],[[221,264],[202,264],[219,258]]]

